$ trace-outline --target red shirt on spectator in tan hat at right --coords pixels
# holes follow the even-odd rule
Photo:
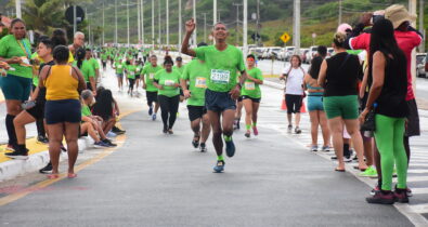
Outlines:
[[[412,86],[412,51],[421,42],[421,37],[415,31],[394,30],[394,36],[399,48],[404,52],[407,59],[407,95],[406,101],[415,99],[415,94]],[[349,45],[352,50],[364,49],[369,53],[371,34],[362,34],[349,40]]]

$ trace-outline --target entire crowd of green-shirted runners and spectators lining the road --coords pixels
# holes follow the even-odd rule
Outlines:
[[[333,159],[338,162],[335,171],[345,172],[345,162],[355,160],[361,176],[377,177],[378,186],[366,199],[369,203],[408,202],[412,196],[406,185],[408,137],[419,135],[419,122],[411,53],[423,40],[410,26],[415,18],[403,5],[365,13],[355,27],[338,27],[332,40],[332,57],[326,57],[326,46],[319,46],[306,71],[300,56],[294,55],[280,76],[285,83],[288,133],[302,133],[300,109],[307,98],[311,151],[334,149]],[[223,23],[213,26],[213,45],[199,43],[191,49],[189,41],[195,26],[193,19],[185,24],[180,51],[192,61],[184,64],[182,56],[173,59],[168,52],[156,56],[148,48],[86,48],[81,32],[76,32],[73,44],[67,46],[62,29],[40,37],[34,52],[25,22],[13,19],[11,34],[0,40],[0,84],[7,99],[10,150],[5,156],[28,158],[25,125],[31,122],[37,124],[38,142],[49,143],[51,162],[40,172],[50,173],[50,178],[59,177],[61,150],[68,152],[68,177],[76,177],[74,164],[80,136],[90,136],[95,147],[116,146],[109,138],[125,133],[115,126],[119,105],[112,91],[99,83],[109,65],[120,92],[126,90],[134,96],[139,89],[145,90],[151,120],[157,120],[160,108],[165,134],[173,134],[179,105],[185,101],[192,146],[207,151],[211,134],[217,153],[213,171],[223,172],[223,146],[225,155],[233,157],[236,147],[232,135],[239,129],[242,108],[245,136],[259,134],[263,76],[255,55],[244,56],[238,48],[228,44]],[[398,184],[393,187],[394,175]]]

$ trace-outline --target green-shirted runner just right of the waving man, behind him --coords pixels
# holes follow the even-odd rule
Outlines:
[[[259,134],[259,131],[257,130],[257,112],[259,111],[261,98],[260,84],[263,84],[263,75],[261,74],[261,70],[256,67],[255,55],[250,54],[247,56],[247,79],[245,80],[243,89],[241,90],[246,112],[246,137],[251,136],[251,126],[254,134]]]

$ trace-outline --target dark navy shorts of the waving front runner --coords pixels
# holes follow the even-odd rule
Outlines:
[[[205,91],[205,105],[207,110],[222,112],[228,109],[236,109],[236,102],[232,99],[229,92],[215,92],[209,89]]]

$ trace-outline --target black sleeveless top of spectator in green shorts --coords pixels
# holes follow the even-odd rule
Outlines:
[[[362,68],[354,54],[338,53],[327,61],[327,75],[324,96],[346,96],[358,94],[358,80]]]

